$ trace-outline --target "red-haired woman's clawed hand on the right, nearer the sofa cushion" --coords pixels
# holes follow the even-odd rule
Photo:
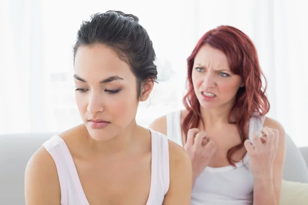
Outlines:
[[[246,139],[244,146],[249,156],[249,167],[254,178],[273,178],[273,161],[278,149],[279,131],[264,127],[262,137],[253,133],[254,145]]]

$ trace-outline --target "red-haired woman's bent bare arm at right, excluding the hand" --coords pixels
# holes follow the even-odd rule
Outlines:
[[[266,119],[264,125],[273,130],[278,140],[278,148],[272,169],[262,175],[254,176],[254,205],[279,205],[285,160],[285,131],[277,121],[270,118]]]

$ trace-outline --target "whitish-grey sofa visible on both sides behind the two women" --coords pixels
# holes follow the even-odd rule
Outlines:
[[[0,135],[0,204],[25,204],[26,164],[31,155],[53,134]],[[290,137],[287,137],[286,144],[283,178],[288,181],[308,183],[308,148],[297,148]]]

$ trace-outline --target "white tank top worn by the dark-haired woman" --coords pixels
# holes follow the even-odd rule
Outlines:
[[[169,148],[165,135],[151,132],[151,185],[146,205],[162,204],[169,189]],[[61,205],[89,205],[72,155],[64,140],[55,135],[43,146],[52,156],[60,181]],[[103,170],[102,170],[103,171]]]

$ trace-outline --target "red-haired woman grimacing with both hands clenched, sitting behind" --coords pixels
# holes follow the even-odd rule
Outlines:
[[[285,131],[265,116],[266,85],[251,39],[234,27],[217,27],[187,61],[186,109],[150,128],[190,155],[191,204],[280,204]]]

